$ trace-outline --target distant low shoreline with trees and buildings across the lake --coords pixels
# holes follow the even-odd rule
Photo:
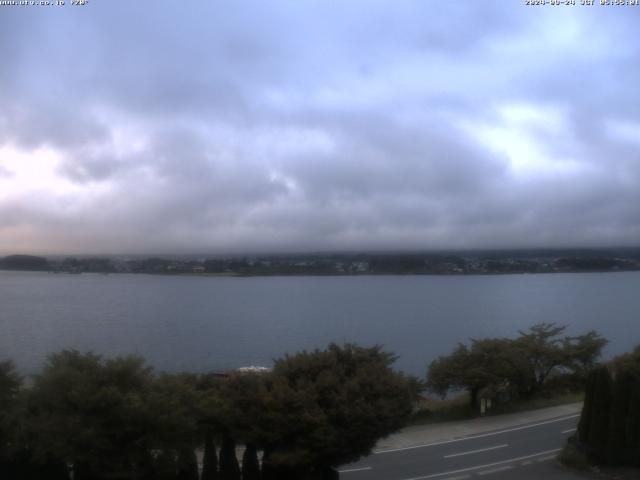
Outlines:
[[[535,255],[538,256],[535,256]],[[624,255],[624,256],[619,256]],[[636,250],[494,251],[467,254],[360,253],[219,258],[47,259],[33,255],[0,258],[0,268],[65,273],[211,275],[426,275],[627,271],[640,269]]]

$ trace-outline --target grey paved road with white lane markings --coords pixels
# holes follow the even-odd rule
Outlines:
[[[551,480],[580,478],[554,459],[578,414],[510,425],[455,439],[375,451],[340,469],[341,480]]]

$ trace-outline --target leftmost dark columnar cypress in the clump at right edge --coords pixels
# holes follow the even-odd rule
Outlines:
[[[592,409],[587,443],[591,461],[601,465],[606,463],[609,414],[611,411],[611,374],[605,366],[596,369]]]

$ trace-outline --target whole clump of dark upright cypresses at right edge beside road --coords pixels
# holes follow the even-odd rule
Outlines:
[[[591,464],[640,467],[640,345],[589,374],[570,442]]]

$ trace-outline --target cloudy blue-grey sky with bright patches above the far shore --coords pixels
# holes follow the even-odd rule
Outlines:
[[[0,254],[640,246],[640,6],[576,3],[0,5]]]

